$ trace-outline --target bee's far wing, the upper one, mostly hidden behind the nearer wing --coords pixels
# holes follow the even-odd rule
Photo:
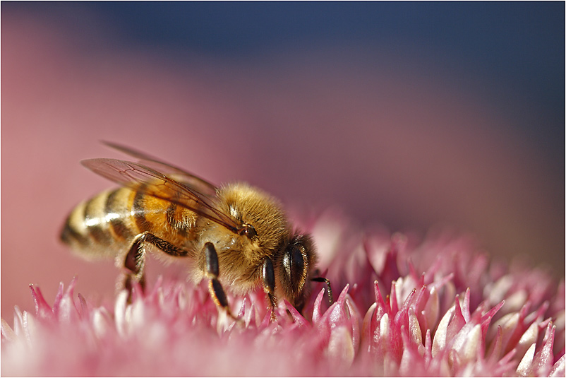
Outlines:
[[[210,182],[207,182],[205,179],[193,175],[186,170],[183,170],[169,163],[165,163],[158,158],[147,155],[147,153],[134,150],[130,147],[107,141],[102,141],[102,143],[114,148],[115,150],[119,150],[122,153],[126,153],[126,155],[130,155],[133,156],[133,158],[139,159],[139,163],[145,165],[146,167],[150,167],[157,172],[163,173],[164,175],[171,175],[174,179],[176,179],[176,181],[185,184],[191,189],[197,190],[200,194],[204,194],[205,196],[209,197],[214,197],[216,195],[216,186],[214,184],[210,184]]]

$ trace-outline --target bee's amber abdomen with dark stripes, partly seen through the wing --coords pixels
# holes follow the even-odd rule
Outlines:
[[[114,257],[148,231],[184,248],[195,232],[196,216],[169,201],[126,187],[103,191],[69,214],[61,240],[84,257]]]

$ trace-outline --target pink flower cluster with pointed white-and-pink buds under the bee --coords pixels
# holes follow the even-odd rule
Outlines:
[[[4,375],[564,376],[565,284],[490,262],[469,237],[359,232],[313,220],[337,298],[313,285],[303,315],[270,321],[261,290],[230,296],[234,322],[205,285],[159,278],[145,295],[92,307],[61,283],[53,305],[31,286],[35,314],[4,319]]]

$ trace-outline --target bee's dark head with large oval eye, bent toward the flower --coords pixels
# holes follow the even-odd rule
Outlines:
[[[308,235],[295,234],[282,249],[279,260],[279,283],[283,295],[299,312],[310,289],[310,275],[316,264],[315,247]]]

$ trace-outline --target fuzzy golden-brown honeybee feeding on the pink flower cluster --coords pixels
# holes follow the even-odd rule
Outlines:
[[[121,187],[83,201],[66,219],[61,240],[85,258],[109,257],[122,268],[121,286],[145,286],[147,251],[187,261],[194,283],[208,280],[212,299],[231,314],[226,292],[262,286],[275,319],[280,298],[303,308],[317,255],[310,235],[292,228],[281,203],[243,182],[215,187],[205,179],[131,148],[138,160],[89,159],[89,170]],[[152,248],[147,248],[152,247]]]

